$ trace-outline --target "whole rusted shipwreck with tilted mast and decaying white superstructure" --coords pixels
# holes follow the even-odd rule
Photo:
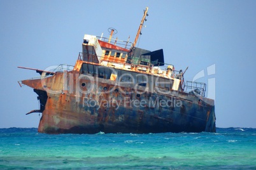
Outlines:
[[[18,81],[38,95],[38,132],[180,133],[215,132],[215,101],[206,98],[206,84],[184,81],[184,72],[164,63],[162,49],[136,47],[134,42],[85,34],[75,66],[36,70],[39,78]]]

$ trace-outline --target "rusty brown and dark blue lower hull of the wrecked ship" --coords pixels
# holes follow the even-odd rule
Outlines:
[[[79,74],[69,72],[69,76]],[[96,78],[95,78],[96,79]],[[63,73],[47,78],[46,84],[62,91]],[[75,84],[76,80],[72,82]],[[215,132],[215,107],[194,94],[173,91],[169,95],[132,93],[134,88],[116,86],[113,81],[97,78],[99,86],[92,93],[77,98],[76,93],[46,93],[41,79],[22,81],[34,88],[41,102],[40,133],[164,133]],[[69,83],[69,82],[68,82]],[[94,83],[80,80],[82,83]],[[59,83],[61,85],[61,83]],[[79,87],[79,86],[78,86]],[[79,87],[80,88],[80,87]],[[112,90],[111,90],[112,89]],[[106,93],[106,90],[110,91]],[[122,93],[120,91],[125,91]],[[85,100],[86,99],[86,100]],[[109,102],[104,105],[104,101]],[[145,101],[139,103],[139,101]],[[159,103],[166,101],[166,105]],[[96,102],[96,104],[94,104]],[[112,103],[111,103],[112,102]],[[137,102],[136,106],[132,102]],[[178,102],[181,102],[178,103]],[[87,105],[91,103],[91,106]],[[118,108],[117,108],[118,107]]]

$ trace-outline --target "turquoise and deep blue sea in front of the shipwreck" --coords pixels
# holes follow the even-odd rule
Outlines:
[[[0,129],[0,169],[256,169],[256,129],[58,135]]]

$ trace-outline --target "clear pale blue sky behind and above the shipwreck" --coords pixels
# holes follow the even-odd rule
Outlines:
[[[256,128],[256,1],[48,0],[0,1],[0,128],[38,127],[38,114],[25,115],[38,109],[37,95],[17,81],[39,74],[17,66],[75,65],[83,35],[108,37],[109,27],[134,41],[146,6],[139,48],[164,49],[166,63],[188,66],[185,80],[201,70],[198,81],[215,80],[217,127]]]

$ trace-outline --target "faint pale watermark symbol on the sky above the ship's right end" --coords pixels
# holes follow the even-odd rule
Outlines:
[[[204,74],[204,72],[206,71],[206,74]],[[214,105],[214,103],[211,100],[208,100],[208,98],[215,100],[215,77],[212,77],[212,75],[215,75],[216,72],[216,65],[210,65],[209,67],[207,67],[206,70],[201,70],[200,72],[198,72],[194,77],[193,77],[193,81],[195,82],[198,79],[201,78],[207,78],[208,79],[208,90],[207,90],[207,98],[201,98],[199,95],[197,95],[196,93],[194,93],[197,97],[201,98],[201,100],[203,100],[204,102],[210,104],[210,105]],[[209,76],[211,76],[211,78],[208,78]],[[193,87],[194,89],[196,89],[196,87]]]

